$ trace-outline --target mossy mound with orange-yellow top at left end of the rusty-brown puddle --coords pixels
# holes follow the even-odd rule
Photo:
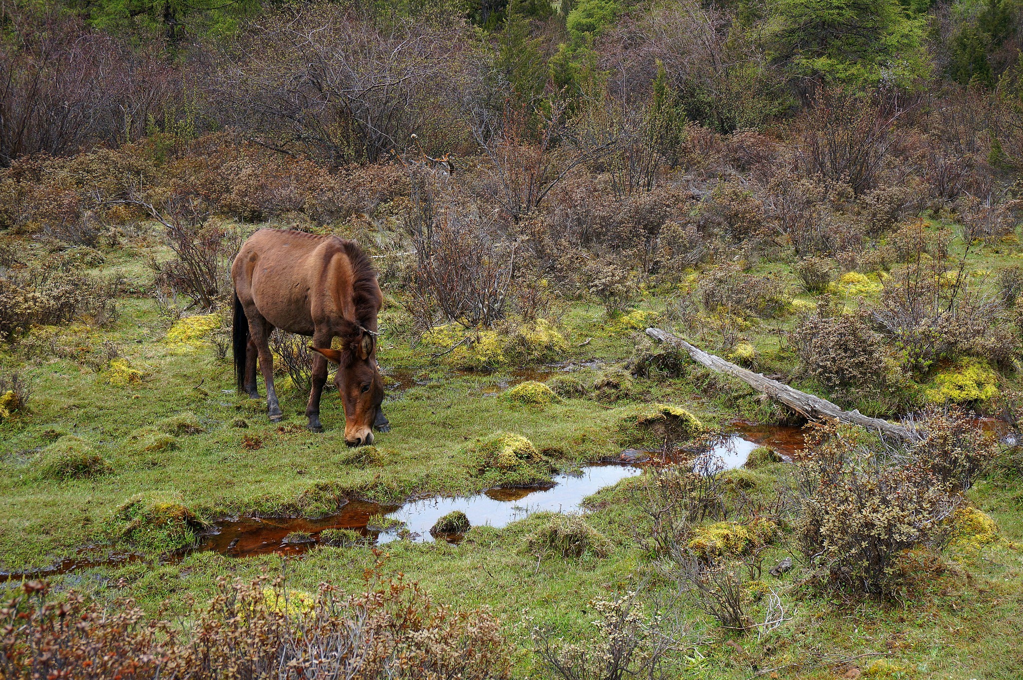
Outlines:
[[[188,547],[203,523],[177,497],[139,495],[121,505],[114,515],[120,537],[152,552]]]

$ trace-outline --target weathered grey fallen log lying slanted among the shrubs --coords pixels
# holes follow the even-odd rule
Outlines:
[[[665,330],[661,330],[660,328],[648,328],[647,334],[660,343],[684,349],[690,353],[690,357],[693,358],[693,361],[697,362],[701,366],[706,366],[713,371],[738,377],[740,380],[746,382],[757,392],[761,392],[767,395],[770,399],[785,404],[808,420],[831,418],[834,420],[841,420],[842,422],[849,422],[854,425],[860,425],[862,427],[866,427],[868,429],[876,429],[884,435],[889,435],[906,442],[917,440],[917,436],[910,429],[903,427],[902,425],[896,425],[895,423],[888,422],[887,420],[882,420],[880,418],[872,418],[863,415],[857,410],[844,411],[827,399],[820,399],[814,395],[800,392],[795,388],[790,388],[784,382],[779,382],[777,380],[765,377],[762,373],[754,373],[753,371],[747,370],[742,366],[737,366],[730,361],[725,361],[724,359],[714,356],[713,354],[708,354],[700,348],[690,345],[681,337]]]

